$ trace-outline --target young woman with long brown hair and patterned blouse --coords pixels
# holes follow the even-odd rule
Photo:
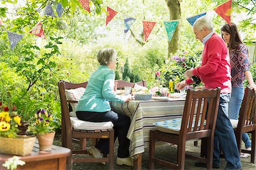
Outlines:
[[[238,119],[244,95],[243,80],[245,78],[248,80],[250,88],[253,88],[255,93],[256,86],[250,72],[248,50],[241,40],[237,25],[234,23],[223,25],[221,34],[222,39],[228,45],[230,54],[232,93],[229,102],[229,118]],[[251,141],[247,133],[243,133],[242,140],[245,142],[246,150],[251,150]],[[246,158],[247,156],[249,154],[241,154],[242,158]]]

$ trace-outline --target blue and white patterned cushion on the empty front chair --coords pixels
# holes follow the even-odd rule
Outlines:
[[[164,133],[172,133],[172,134],[179,134],[181,128],[182,118],[174,118],[171,120],[155,122],[154,125],[159,131]],[[199,120],[199,124],[200,124]],[[204,125],[206,124],[206,120],[204,121]],[[192,122],[192,127],[195,126],[195,120]],[[193,129],[192,129],[193,130]]]

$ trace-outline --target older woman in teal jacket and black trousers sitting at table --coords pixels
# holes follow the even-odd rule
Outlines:
[[[77,118],[84,121],[106,122],[112,121],[115,130],[115,139],[118,137],[119,147],[117,153],[118,165],[133,166],[129,156],[130,140],[126,135],[130,127],[130,118],[111,110],[109,101],[124,103],[131,100],[131,96],[118,96],[114,93],[114,68],[117,53],[112,48],[101,49],[97,54],[100,67],[89,78],[84,94],[77,107]],[[94,158],[102,158],[109,153],[109,139],[100,139],[97,145],[87,149]]]

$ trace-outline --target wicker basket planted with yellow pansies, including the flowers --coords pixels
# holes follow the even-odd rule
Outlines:
[[[18,135],[22,118],[14,109],[9,111],[9,107],[0,102],[0,152],[13,155],[31,154],[35,137]]]

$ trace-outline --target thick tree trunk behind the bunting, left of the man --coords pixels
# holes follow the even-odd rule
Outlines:
[[[166,0],[167,6],[170,11],[170,20],[181,19],[181,10],[180,10],[181,0]],[[174,32],[172,40],[168,42],[168,56],[170,53],[176,52],[180,48],[180,21],[177,24],[177,28]]]

